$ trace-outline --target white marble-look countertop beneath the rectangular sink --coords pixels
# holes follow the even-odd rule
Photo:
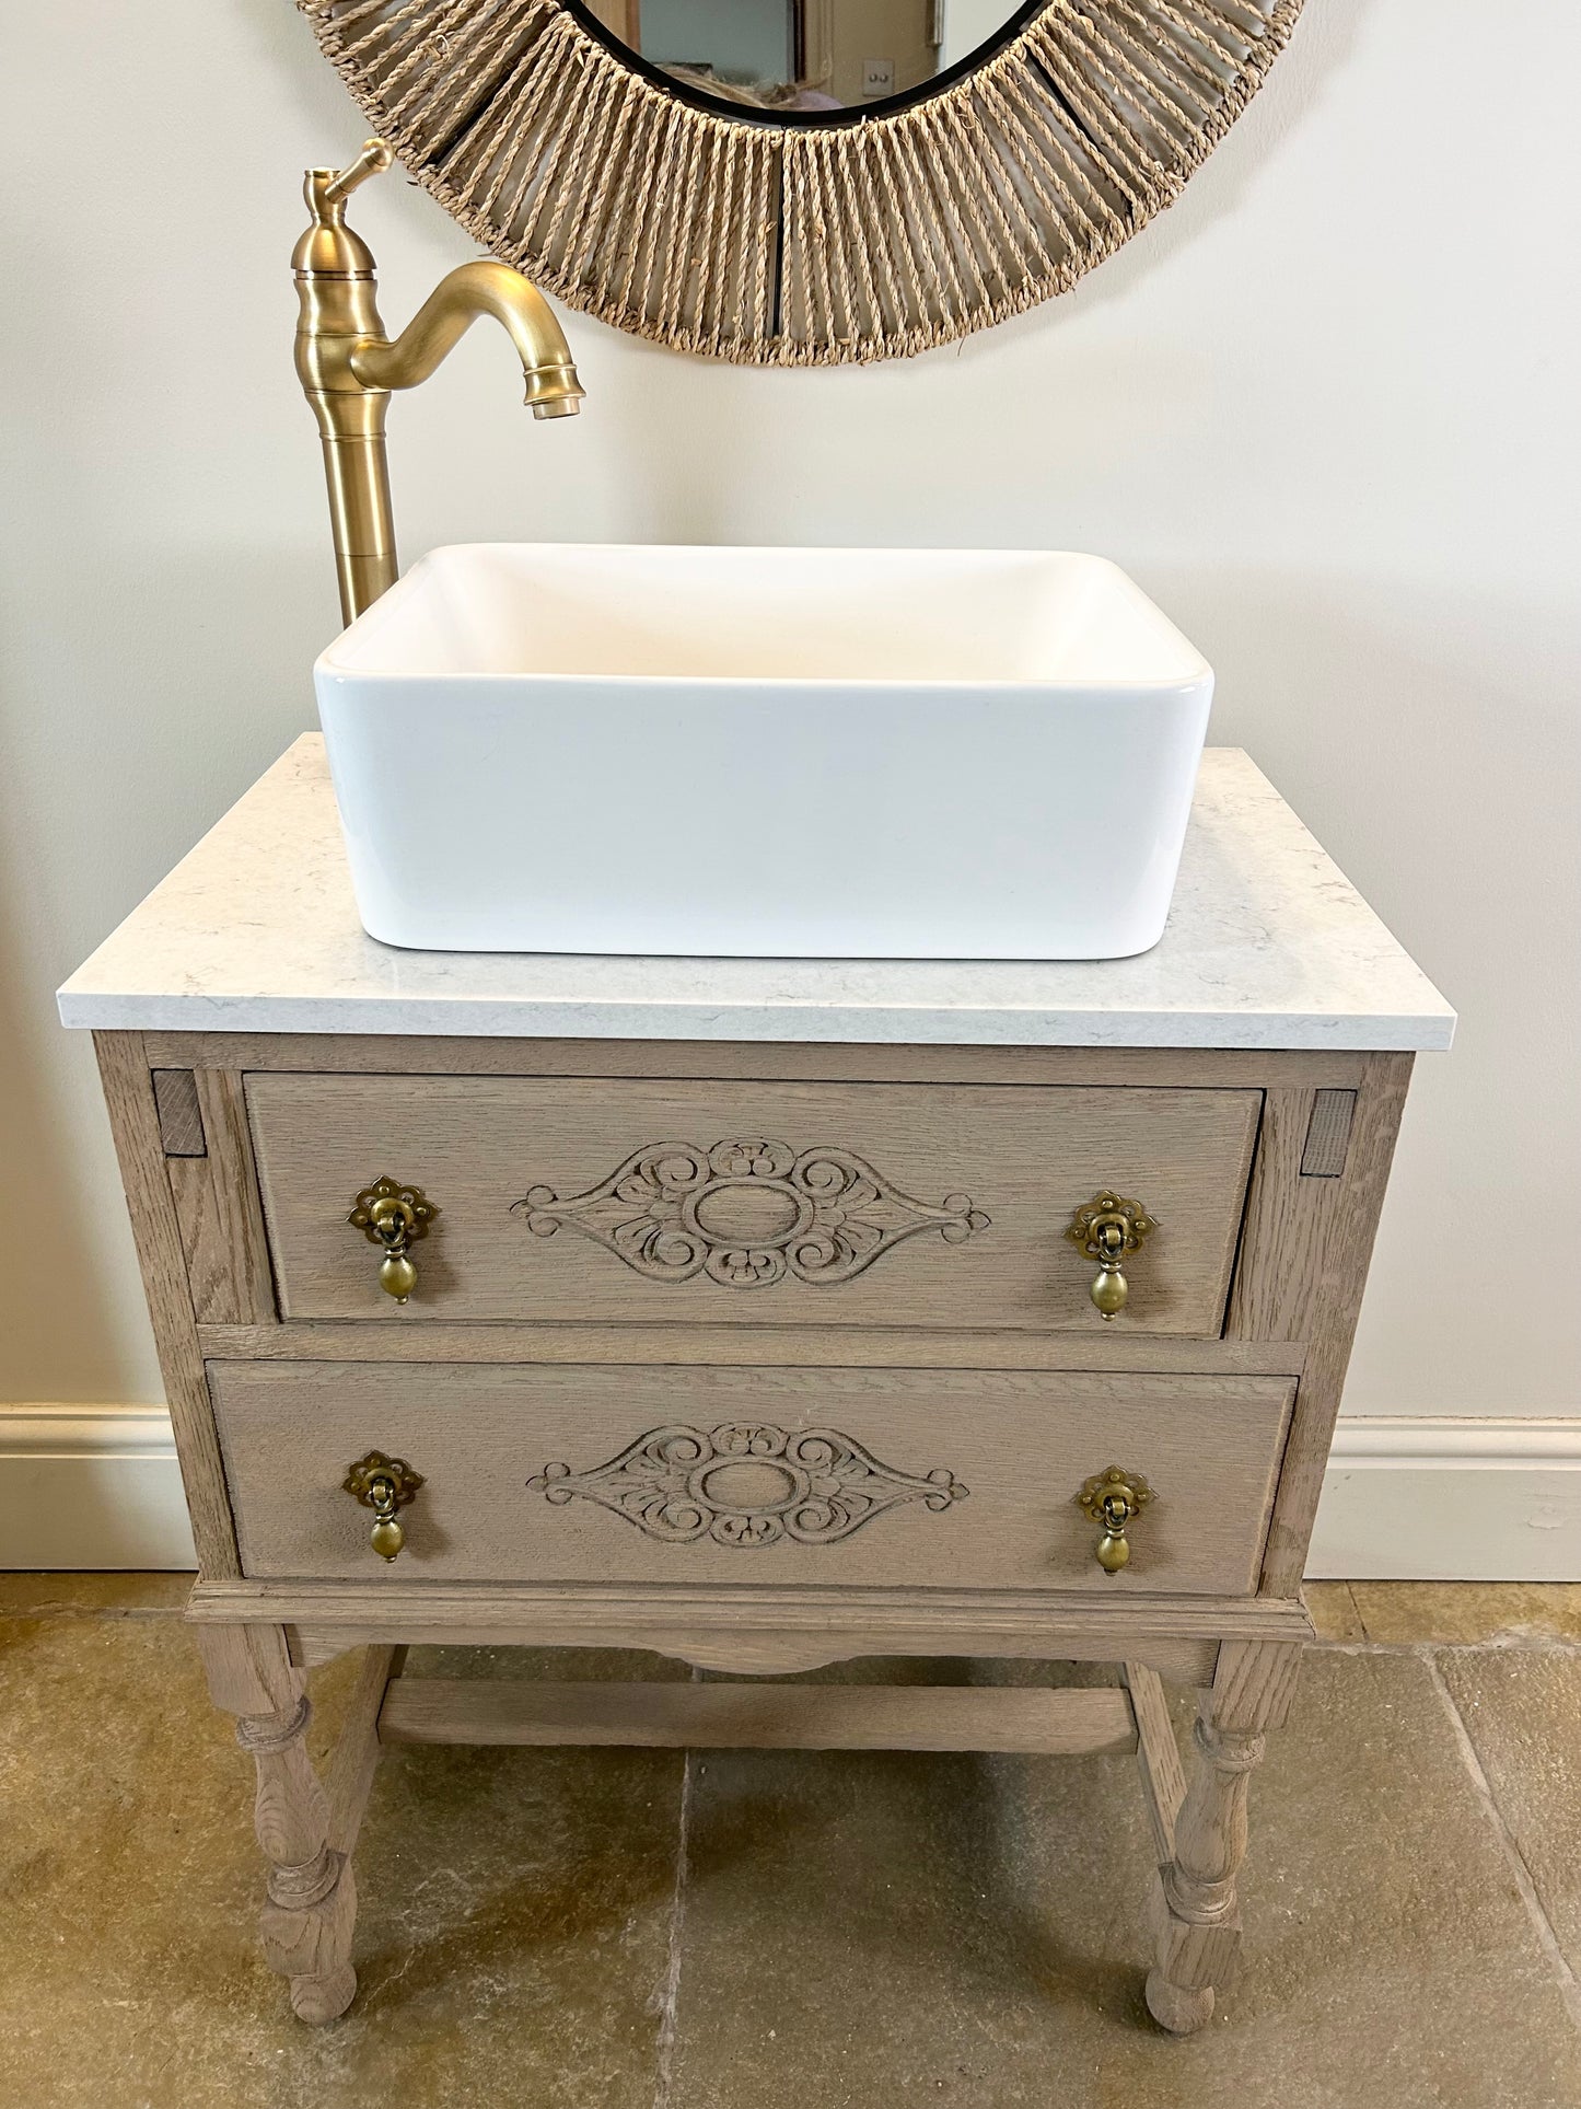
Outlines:
[[[1134,960],[396,951],[352,901],[304,734],[59,991],[145,1031],[1446,1048],[1455,1012],[1235,747],[1210,747],[1170,926]]]

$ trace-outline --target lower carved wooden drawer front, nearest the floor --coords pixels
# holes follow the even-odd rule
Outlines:
[[[211,1362],[209,1379],[257,1578],[1107,1601],[1256,1588],[1294,1396],[1282,1377],[913,1369]],[[419,1474],[394,1567],[371,1544],[369,1459]],[[1151,1495],[1119,1573],[1079,1504],[1109,1466]]]

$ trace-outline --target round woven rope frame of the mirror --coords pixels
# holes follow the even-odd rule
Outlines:
[[[656,344],[799,367],[906,356],[1067,291],[1174,202],[1303,0],[1006,0],[936,80],[818,110],[660,70],[607,0],[297,4],[502,262]]]

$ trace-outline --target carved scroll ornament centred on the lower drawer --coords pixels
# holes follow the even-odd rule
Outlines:
[[[864,1523],[921,1502],[944,1510],[968,1489],[946,1468],[928,1474],[883,1464],[835,1428],[653,1428],[609,1464],[573,1472],[548,1464],[527,1485],[563,1506],[597,1502],[666,1546],[831,1546]]]

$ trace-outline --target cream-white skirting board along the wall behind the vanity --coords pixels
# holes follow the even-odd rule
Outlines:
[[[192,1565],[164,1407],[0,1407],[0,1569]],[[1343,1419],[1307,1573],[1581,1582],[1581,1417]]]

